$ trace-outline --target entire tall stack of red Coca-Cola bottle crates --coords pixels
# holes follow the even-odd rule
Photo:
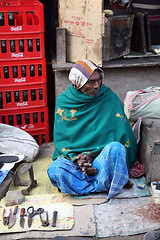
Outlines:
[[[49,142],[43,5],[0,0],[0,123]]]

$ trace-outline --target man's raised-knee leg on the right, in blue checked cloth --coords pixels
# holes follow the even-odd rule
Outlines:
[[[106,145],[92,166],[98,170],[98,174],[94,176],[95,190],[97,192],[108,190],[107,200],[119,193],[129,180],[126,150],[119,142]]]

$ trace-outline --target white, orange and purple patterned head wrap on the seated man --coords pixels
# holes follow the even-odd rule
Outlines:
[[[76,61],[69,73],[69,80],[74,86],[76,86],[77,89],[80,89],[88,81],[96,69],[103,72],[101,68],[90,60]]]

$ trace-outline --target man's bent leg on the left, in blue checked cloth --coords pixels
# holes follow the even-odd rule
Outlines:
[[[48,168],[48,176],[53,186],[70,195],[82,195],[94,192],[92,176],[86,176],[78,165],[66,158],[58,158]]]

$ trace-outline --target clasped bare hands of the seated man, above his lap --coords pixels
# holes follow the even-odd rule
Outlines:
[[[82,170],[82,172],[86,175],[95,175],[97,174],[97,169],[91,167],[93,162],[93,158],[85,155],[83,153],[78,154],[77,156],[77,165]]]

